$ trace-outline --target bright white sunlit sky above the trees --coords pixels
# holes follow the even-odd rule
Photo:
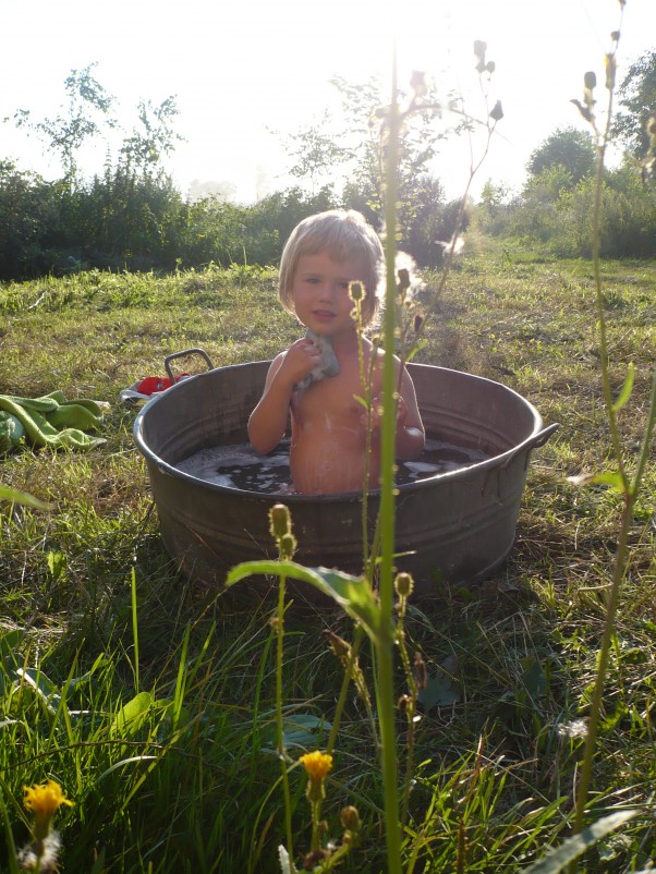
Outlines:
[[[627,0],[623,19],[618,0],[0,0],[0,120],[19,108],[34,121],[54,117],[71,70],[96,63],[127,133],[139,99],[175,96],[185,142],[167,169],[183,194],[193,180],[228,182],[244,203],[290,183],[287,137],[338,111],[333,75],[378,76],[386,93],[396,52],[401,85],[423,70],[481,118],[473,43],[484,40],[496,64],[489,105],[501,100],[505,118],[474,191],[487,179],[517,189],[557,128],[585,129],[570,100],[587,70],[604,82],[610,32],[621,23],[619,82],[656,48],[656,0]],[[438,156],[433,170],[449,196],[464,190],[483,147],[479,133],[471,149],[459,139]],[[58,175],[42,144],[13,122],[0,124],[2,158]],[[104,148],[84,169],[100,172],[102,161]]]

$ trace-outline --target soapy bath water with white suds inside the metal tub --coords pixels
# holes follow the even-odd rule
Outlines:
[[[416,483],[438,473],[469,468],[488,456],[442,440],[426,440],[418,459],[399,462],[398,485]],[[269,495],[290,494],[289,445],[259,456],[248,444],[201,449],[175,465],[178,470],[207,483]]]

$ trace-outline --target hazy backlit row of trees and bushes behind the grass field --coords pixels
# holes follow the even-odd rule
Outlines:
[[[326,119],[297,132],[288,142],[288,154],[290,174],[299,184],[241,205],[184,197],[162,169],[163,157],[181,138],[172,97],[159,106],[141,101],[137,124],[122,133],[118,151],[108,154],[100,172],[83,178],[82,147],[118,122],[113,97],[96,80],[94,65],[72,71],[60,114],[35,121],[28,110],[17,110],[12,120],[59,155],[63,172],[47,181],[0,159],[0,280],[90,268],[167,271],[209,263],[276,264],[292,228],[332,207],[360,209],[380,229],[378,161],[385,145],[372,123],[380,89],[373,81],[352,85],[336,78],[333,85],[342,102],[341,130]],[[414,83],[414,97],[421,88],[423,102],[403,129],[399,227],[400,245],[420,266],[434,267],[442,255],[438,241],[451,239],[463,205],[446,198],[430,171],[432,158],[440,139],[462,134],[467,120],[436,125],[434,114],[422,109],[437,105],[427,87]],[[411,93],[408,99],[414,97]],[[618,98],[614,135],[627,157],[605,175],[603,254],[653,257],[656,51],[631,65]],[[595,169],[592,135],[573,126],[557,130],[532,154],[522,190],[509,192],[488,181],[479,203],[464,205],[464,227],[473,220],[488,234],[561,257],[587,256]]]

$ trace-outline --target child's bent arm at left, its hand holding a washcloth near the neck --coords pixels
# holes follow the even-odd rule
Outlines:
[[[320,357],[317,347],[303,338],[274,359],[263,396],[248,420],[248,439],[256,452],[270,452],[284,437],[294,386]]]

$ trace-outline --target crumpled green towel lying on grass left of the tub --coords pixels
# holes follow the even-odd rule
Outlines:
[[[0,452],[9,452],[22,442],[53,448],[90,449],[106,442],[102,437],[85,434],[102,424],[99,401],[68,401],[63,391],[40,398],[0,394]]]

